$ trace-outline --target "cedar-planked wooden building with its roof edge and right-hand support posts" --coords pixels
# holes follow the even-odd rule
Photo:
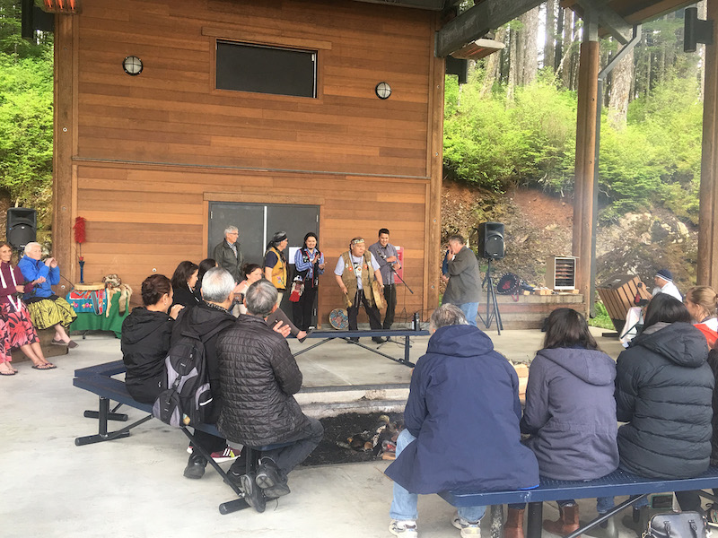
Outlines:
[[[342,304],[337,256],[352,237],[371,243],[386,227],[405,248],[404,277],[416,291],[400,294],[398,310],[426,317],[438,303],[444,57],[541,2],[481,0],[454,16],[458,4],[65,2],[78,9],[55,20],[53,239],[70,280],[79,277],[77,216],[87,219],[85,280],[118,273],[136,290],[149,274],[206,257],[226,224],[240,226],[256,262],[273,231],[286,230],[299,247],[315,230],[328,258],[321,321]],[[600,36],[626,43],[634,25],[687,4],[562,2],[584,18],[574,204],[583,297],[591,292]],[[707,56],[705,164],[715,161],[714,45]],[[247,57],[252,68],[233,76]],[[702,183],[699,276],[716,285],[718,188],[707,167]]]

